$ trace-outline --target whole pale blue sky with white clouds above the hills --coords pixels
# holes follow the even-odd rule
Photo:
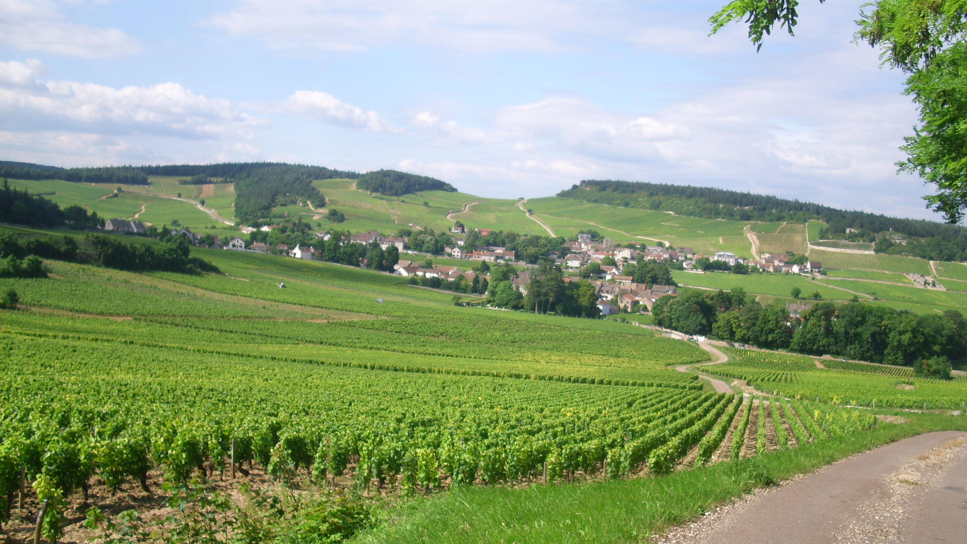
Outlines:
[[[0,160],[280,161],[487,197],[582,179],[937,219],[896,173],[917,111],[804,0],[759,52],[724,0],[0,0]]]

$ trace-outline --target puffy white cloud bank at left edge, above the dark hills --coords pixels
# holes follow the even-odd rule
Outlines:
[[[16,132],[246,138],[265,121],[178,83],[120,89],[35,78],[38,62],[0,63],[0,127]]]

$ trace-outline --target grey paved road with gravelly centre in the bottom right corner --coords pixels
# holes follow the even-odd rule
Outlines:
[[[967,435],[905,438],[669,530],[666,544],[967,542]]]

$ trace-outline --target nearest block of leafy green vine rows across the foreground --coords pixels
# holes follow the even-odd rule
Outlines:
[[[0,337],[0,352],[0,496],[19,485],[16,468],[71,494],[95,475],[117,489],[146,485],[156,467],[174,482],[223,474],[230,453],[237,468],[250,462],[275,478],[404,493],[535,480],[544,468],[550,480],[661,473],[696,445],[694,462],[708,462],[742,404],[677,388],[329,369],[19,335]],[[809,437],[873,422],[828,405],[786,409]],[[768,416],[752,417],[748,433]],[[775,428],[781,415],[771,417]]]

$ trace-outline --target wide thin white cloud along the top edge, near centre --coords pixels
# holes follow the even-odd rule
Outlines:
[[[572,35],[630,35],[623,0],[239,0],[212,23],[280,48],[359,51],[398,43],[461,51],[570,50]]]

